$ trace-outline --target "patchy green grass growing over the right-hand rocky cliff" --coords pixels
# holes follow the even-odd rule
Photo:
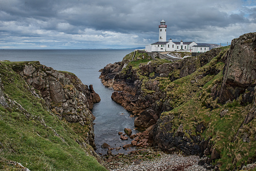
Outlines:
[[[214,164],[221,163],[221,170],[232,170],[248,162],[255,161],[256,158],[256,122],[255,119],[248,124],[243,121],[253,107],[252,104],[241,106],[241,97],[227,104],[219,104],[218,97],[214,99],[211,96],[211,89],[215,86],[220,89],[223,80],[224,63],[222,58],[225,57],[229,47],[220,48],[222,51],[214,57],[209,63],[200,68],[198,57],[190,57],[187,62],[196,63],[197,70],[188,76],[179,78],[180,71],[174,70],[168,77],[156,77],[152,79],[153,74],[149,77],[141,76],[141,91],[144,96],[156,93],[148,90],[147,84],[157,80],[159,88],[166,97],[161,99],[162,103],[169,102],[173,110],[161,114],[161,120],[169,120],[161,122],[159,129],[165,129],[164,125],[172,125],[166,132],[176,132],[179,125],[183,124],[186,130],[185,136],[193,137],[201,136],[202,139],[210,139],[210,142],[220,153],[221,159],[214,161]],[[138,66],[140,60],[134,63],[133,67],[137,71],[137,75],[142,75]],[[164,60],[155,59],[151,61],[151,65],[157,67],[164,63]],[[169,61],[168,61],[169,62]],[[190,65],[191,63],[186,63]],[[142,65],[142,64],[141,64]],[[218,71],[218,74],[207,74],[209,71]],[[146,73],[144,73],[146,75]],[[171,81],[170,78],[175,78]],[[157,101],[157,104],[160,100]],[[220,116],[220,112],[227,109],[228,112],[224,117]],[[172,117],[173,119],[168,119]],[[206,129],[202,133],[196,132],[196,126],[203,123]],[[243,137],[248,135],[249,141],[245,142]]]

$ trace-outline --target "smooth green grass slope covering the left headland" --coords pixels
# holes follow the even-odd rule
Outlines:
[[[15,161],[30,170],[106,170],[90,155],[93,149],[89,144],[77,143],[84,142],[84,134],[76,134],[54,116],[12,70],[25,64],[0,62],[3,91],[10,99],[9,108],[0,107],[0,169],[17,170],[8,164]]]

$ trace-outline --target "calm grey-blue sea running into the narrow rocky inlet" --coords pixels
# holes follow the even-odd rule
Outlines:
[[[105,88],[98,72],[108,63],[121,61],[132,50],[0,50],[0,60],[33,61],[38,60],[42,65],[52,67],[59,71],[68,71],[76,74],[82,83],[93,84],[94,90],[99,94],[101,101],[94,104],[92,111],[96,117],[94,123],[95,143],[98,153],[105,154],[106,149],[101,145],[105,142],[111,147],[118,147],[130,143],[131,140],[120,140],[118,132],[124,128],[134,130],[134,118],[130,113],[111,99],[113,90]],[[112,153],[124,153],[113,150]]]

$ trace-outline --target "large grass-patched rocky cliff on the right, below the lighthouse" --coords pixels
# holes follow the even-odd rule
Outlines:
[[[200,155],[207,168],[240,169],[256,161],[255,37],[174,62],[131,53],[100,77],[116,90],[113,100],[138,116],[135,126],[150,129],[156,149]]]

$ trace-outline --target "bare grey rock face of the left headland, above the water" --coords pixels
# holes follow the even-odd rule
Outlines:
[[[26,82],[40,95],[59,119],[70,123],[79,123],[88,129],[84,140],[96,148],[94,143],[93,120],[90,111],[93,103],[99,102],[100,97],[93,90],[93,86],[82,84],[74,74],[59,72],[50,67],[35,63],[15,63],[12,69],[22,76]],[[79,133],[81,130],[74,130]]]

